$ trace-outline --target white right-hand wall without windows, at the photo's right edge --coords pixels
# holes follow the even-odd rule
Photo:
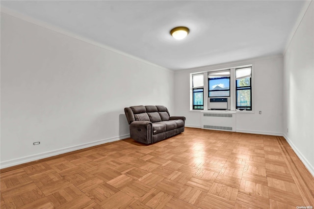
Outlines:
[[[295,153],[314,175],[313,14],[312,1],[284,54],[283,132]]]

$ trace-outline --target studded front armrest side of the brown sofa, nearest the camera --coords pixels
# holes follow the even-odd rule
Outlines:
[[[151,144],[153,127],[150,121],[133,121],[130,124],[130,136],[135,141]]]

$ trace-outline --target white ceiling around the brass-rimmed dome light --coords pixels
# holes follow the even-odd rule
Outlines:
[[[304,1],[4,1],[1,6],[168,69],[283,53]],[[169,31],[187,26],[175,40]]]

